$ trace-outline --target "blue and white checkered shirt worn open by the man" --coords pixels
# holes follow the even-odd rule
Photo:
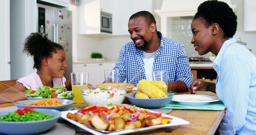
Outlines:
[[[188,88],[193,81],[193,76],[184,45],[162,37],[160,32],[158,32],[158,37],[161,37],[161,42],[154,56],[152,71],[169,71],[169,82],[183,81]],[[140,68],[142,71],[132,81],[135,86],[141,79],[146,79],[142,50],[137,49],[133,41],[125,44],[120,50],[114,67],[119,70],[119,82],[122,83],[125,79],[126,82],[129,82]]]

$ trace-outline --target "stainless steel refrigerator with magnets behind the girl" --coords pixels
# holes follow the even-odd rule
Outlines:
[[[48,34],[48,38],[63,46],[68,68],[64,77],[70,80],[72,72],[72,12],[61,8],[37,4],[37,31]]]

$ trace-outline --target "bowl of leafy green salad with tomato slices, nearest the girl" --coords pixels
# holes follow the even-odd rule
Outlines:
[[[30,97],[27,97],[28,100],[31,99],[49,99],[49,98],[57,98],[57,99],[69,99],[73,100],[75,94],[72,91],[67,91],[65,86],[39,86],[36,91],[27,89],[24,93]]]

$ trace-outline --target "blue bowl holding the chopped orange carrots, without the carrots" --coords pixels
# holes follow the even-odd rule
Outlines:
[[[44,109],[55,109],[58,111],[68,111],[68,109],[72,106],[74,103],[73,100],[68,100],[68,99],[57,99],[63,103],[63,105],[52,105],[52,106],[30,106],[30,105],[23,105],[23,103],[33,103],[35,101],[41,101],[43,99],[33,99],[33,100],[22,100],[22,101],[17,101],[15,105],[18,108],[44,108]],[[20,103],[20,104],[18,104]]]

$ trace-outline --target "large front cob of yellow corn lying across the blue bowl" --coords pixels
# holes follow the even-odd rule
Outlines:
[[[164,91],[162,91],[161,89],[159,89],[158,87],[156,87],[155,85],[153,85],[145,79],[139,81],[139,83],[137,84],[137,88],[141,90],[143,93],[147,94],[148,97],[150,98],[167,97]]]

